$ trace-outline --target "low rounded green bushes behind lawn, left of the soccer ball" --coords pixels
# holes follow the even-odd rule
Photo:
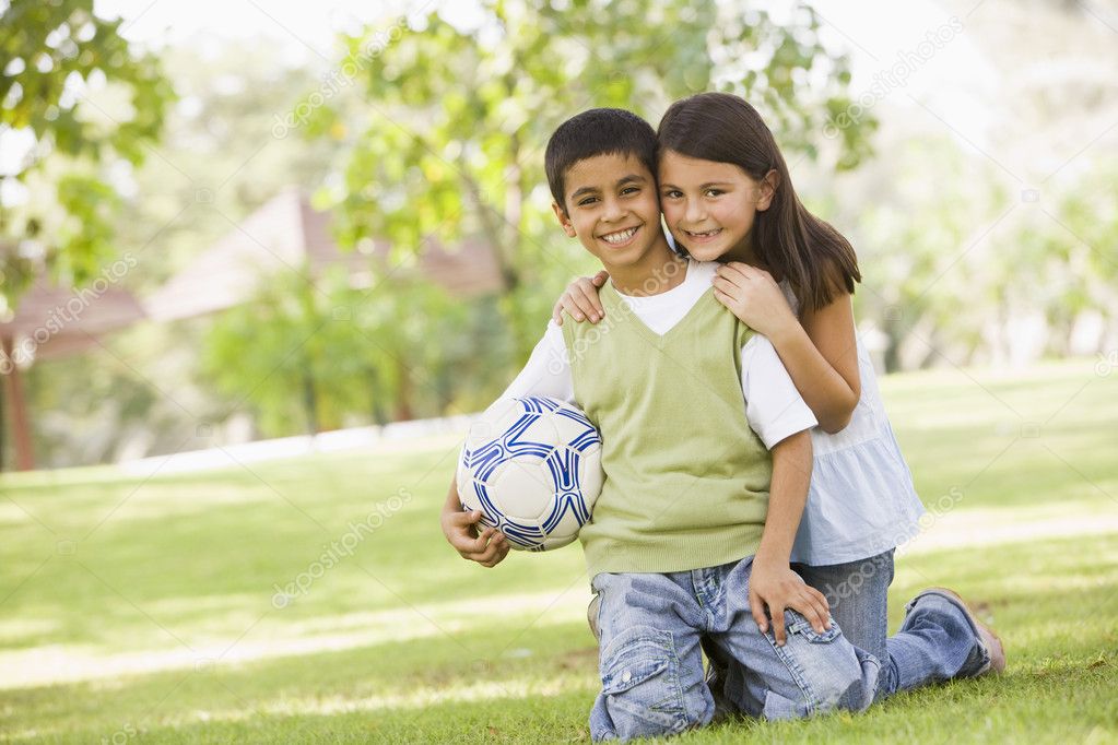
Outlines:
[[[472,351],[456,342],[468,340],[467,307],[399,274],[372,292],[341,267],[262,278],[256,298],[206,335],[206,375],[252,405],[267,436],[337,429],[353,414],[383,423],[446,413],[470,383],[453,374]]]

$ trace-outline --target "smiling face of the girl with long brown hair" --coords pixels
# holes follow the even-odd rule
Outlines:
[[[675,240],[700,261],[755,262],[750,231],[775,193],[775,172],[756,181],[732,163],[669,150],[660,159],[660,208]]]

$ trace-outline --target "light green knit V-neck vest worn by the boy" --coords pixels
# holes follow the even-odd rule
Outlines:
[[[682,572],[757,552],[773,459],[746,421],[752,336],[708,290],[663,336],[601,288],[605,319],[568,323],[575,401],[601,432],[601,496],[579,538],[598,572]]]

